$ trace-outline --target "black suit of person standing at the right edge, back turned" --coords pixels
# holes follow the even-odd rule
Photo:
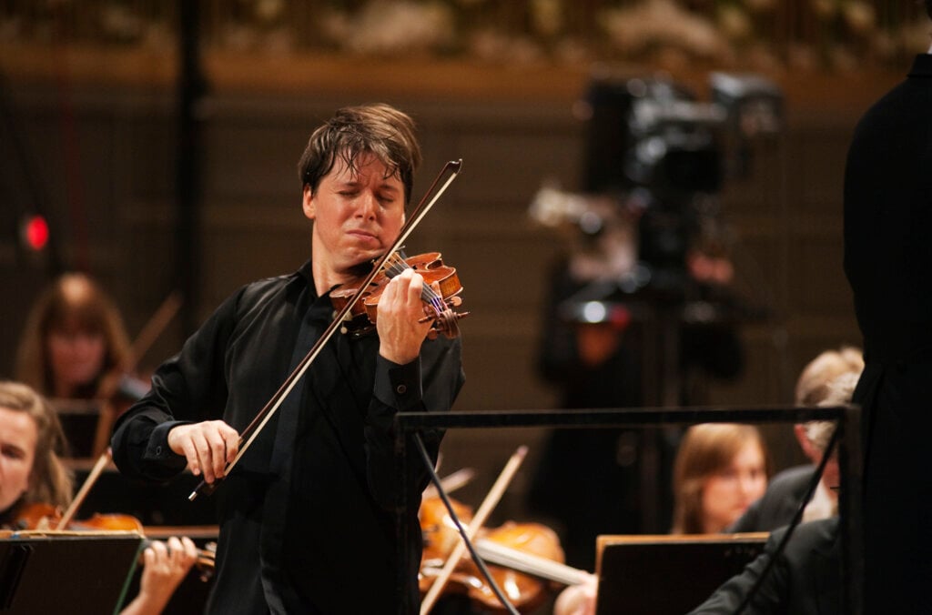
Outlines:
[[[932,594],[932,55],[861,118],[844,177],[844,272],[864,335],[866,613]]]

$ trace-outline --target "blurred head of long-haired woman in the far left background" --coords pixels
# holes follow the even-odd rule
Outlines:
[[[130,352],[114,303],[88,276],[65,274],[37,299],[23,330],[17,378],[56,399],[90,399]]]

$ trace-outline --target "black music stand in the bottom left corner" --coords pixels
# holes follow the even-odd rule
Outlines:
[[[116,613],[143,540],[123,532],[0,540],[0,613]]]

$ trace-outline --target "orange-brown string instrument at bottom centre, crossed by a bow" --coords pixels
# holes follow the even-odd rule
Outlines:
[[[472,511],[451,500],[461,523],[471,518]],[[459,540],[459,530],[439,498],[425,499],[420,511],[424,551],[418,585],[421,594],[430,587],[443,566],[445,558]],[[541,605],[551,584],[582,582],[583,570],[563,565],[564,554],[553,529],[536,523],[506,522],[495,529],[484,529],[475,541],[479,555],[493,564],[488,567],[493,580],[505,593],[514,608],[530,611]],[[494,612],[504,612],[498,596],[489,587],[472,559],[463,558],[447,584],[447,591],[465,593]]]

